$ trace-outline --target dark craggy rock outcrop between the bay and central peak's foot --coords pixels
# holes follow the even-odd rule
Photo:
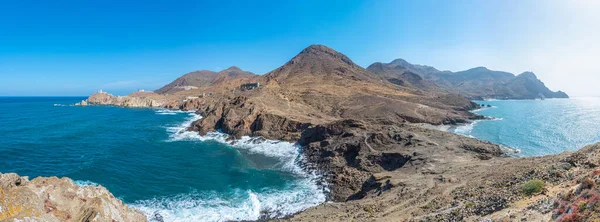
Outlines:
[[[325,172],[335,201],[362,199],[381,191],[381,186],[389,189],[398,185],[380,184],[373,179],[378,174],[429,172],[431,163],[452,162],[439,156],[472,161],[503,156],[498,145],[475,139],[408,125],[371,125],[355,120],[311,127],[298,143],[310,162]]]

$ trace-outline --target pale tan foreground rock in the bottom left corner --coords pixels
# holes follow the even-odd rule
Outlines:
[[[0,173],[0,221],[147,221],[102,186]]]

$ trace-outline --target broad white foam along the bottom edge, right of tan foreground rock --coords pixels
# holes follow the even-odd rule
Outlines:
[[[310,187],[294,187],[285,190],[242,191],[236,190],[232,196],[216,192],[190,193],[170,198],[138,201],[132,204],[146,214],[149,219],[162,218],[163,221],[240,221],[268,218],[281,218],[324,200],[315,198]]]

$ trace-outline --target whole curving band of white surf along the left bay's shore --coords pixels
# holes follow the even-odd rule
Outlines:
[[[261,190],[235,190],[233,195],[219,193],[189,193],[175,197],[138,201],[132,206],[149,218],[160,217],[164,221],[230,221],[258,220],[263,216],[281,218],[326,201],[327,192],[321,176],[301,167],[307,164],[294,143],[252,138],[228,141],[229,135],[212,132],[200,136],[188,131],[200,115],[189,113],[183,123],[167,128],[169,141],[217,141],[231,145],[249,154],[258,154],[278,161],[277,170],[292,173],[294,180],[285,188]]]

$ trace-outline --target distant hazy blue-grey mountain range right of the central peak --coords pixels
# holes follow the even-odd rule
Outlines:
[[[445,91],[459,93],[470,99],[568,98],[564,92],[549,90],[532,72],[515,76],[508,72],[477,67],[453,73],[430,66],[413,65],[402,59],[390,63],[374,63],[368,70],[390,82],[407,82],[405,84],[432,90],[430,84],[422,84],[428,81]],[[415,81],[411,77],[413,74],[418,74],[424,80]]]

